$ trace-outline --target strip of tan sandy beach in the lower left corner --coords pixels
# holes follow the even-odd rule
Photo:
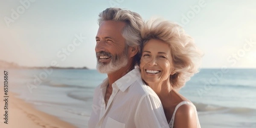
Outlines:
[[[15,93],[8,93],[8,124],[4,123],[5,97],[0,101],[0,128],[76,128],[55,116],[36,110],[31,104],[15,97]]]

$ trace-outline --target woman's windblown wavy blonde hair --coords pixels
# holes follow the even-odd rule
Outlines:
[[[194,39],[178,24],[159,18],[151,19],[144,23],[141,36],[142,49],[150,39],[169,44],[175,67],[175,74],[170,75],[170,82],[175,90],[180,90],[186,81],[199,72],[203,53],[196,47]]]

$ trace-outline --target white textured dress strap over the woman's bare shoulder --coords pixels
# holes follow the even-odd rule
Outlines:
[[[188,101],[180,102],[180,103],[175,107],[174,113],[172,114],[172,119],[171,119],[171,121],[170,121],[170,123],[169,123],[169,127],[170,127],[170,128],[173,128],[175,113],[176,113],[177,109],[178,109],[181,105],[191,105],[192,108],[194,108],[195,116],[196,116],[196,121],[197,121],[197,128],[201,128],[200,122],[199,122],[199,119],[198,119],[198,114],[197,114],[197,111],[196,111],[196,108],[195,108],[195,105],[192,104],[191,102],[188,102]]]

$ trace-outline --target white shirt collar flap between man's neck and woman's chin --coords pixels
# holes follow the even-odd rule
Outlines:
[[[121,77],[113,84],[124,92],[134,81],[140,78],[140,69],[136,67],[134,70],[131,70],[129,73],[125,74],[125,76]]]

